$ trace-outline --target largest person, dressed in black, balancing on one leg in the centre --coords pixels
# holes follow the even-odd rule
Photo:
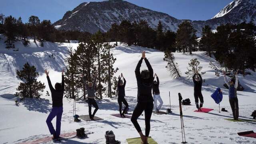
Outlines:
[[[145,60],[145,63],[148,67],[148,70],[142,70],[140,72],[140,66],[142,64],[142,60]],[[148,135],[150,132],[150,118],[153,111],[153,98],[152,98],[152,86],[153,86],[153,69],[148,62],[145,52],[142,52],[142,58],[139,60],[136,69],[135,69],[135,75],[137,79],[137,86],[138,86],[138,95],[137,95],[137,105],[132,113],[131,121],[140,134],[140,138],[144,144],[148,143]],[[145,112],[145,135],[142,134],[140,125],[138,124],[138,117],[142,114],[142,112]]]

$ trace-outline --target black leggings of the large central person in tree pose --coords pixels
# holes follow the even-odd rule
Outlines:
[[[131,118],[132,124],[134,125],[134,127],[138,132],[141,132],[140,125],[138,124],[137,119],[142,114],[143,110],[145,111],[145,124],[146,124],[145,136],[148,136],[150,132],[150,118],[152,115],[153,108],[154,108],[153,102],[138,102],[138,104],[136,105],[132,113],[132,118]]]

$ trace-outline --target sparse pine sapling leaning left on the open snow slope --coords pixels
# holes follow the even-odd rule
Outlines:
[[[178,63],[175,62],[175,57],[172,52],[168,50],[164,52],[164,61],[168,62],[165,67],[170,72],[170,76],[173,78],[181,77]]]

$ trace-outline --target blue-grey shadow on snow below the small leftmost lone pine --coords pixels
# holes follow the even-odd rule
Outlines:
[[[52,104],[44,98],[24,98],[20,103],[29,111],[48,113],[52,110]]]

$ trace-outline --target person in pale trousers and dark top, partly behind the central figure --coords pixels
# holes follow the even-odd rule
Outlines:
[[[154,80],[154,84],[153,84],[153,94],[154,94],[154,101],[155,101],[155,105],[154,105],[154,110],[156,112],[159,112],[159,110],[161,109],[162,105],[163,105],[163,101],[162,98],[160,96],[160,91],[159,91],[159,78],[157,76],[157,74],[154,75],[154,77],[156,76],[156,80]],[[157,101],[160,103],[159,106],[157,106]]]

